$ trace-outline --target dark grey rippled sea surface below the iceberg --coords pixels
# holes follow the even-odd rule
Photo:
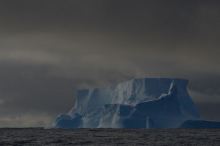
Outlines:
[[[1,128],[0,145],[220,145],[220,129]]]

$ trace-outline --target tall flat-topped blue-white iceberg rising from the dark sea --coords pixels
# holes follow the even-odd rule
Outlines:
[[[199,121],[200,114],[187,93],[187,83],[186,79],[141,78],[78,90],[75,106],[59,115],[52,128],[193,127],[187,121]]]

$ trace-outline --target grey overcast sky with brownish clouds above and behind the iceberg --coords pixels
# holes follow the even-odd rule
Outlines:
[[[185,78],[220,120],[219,0],[0,0],[0,127],[49,126],[76,91]]]

